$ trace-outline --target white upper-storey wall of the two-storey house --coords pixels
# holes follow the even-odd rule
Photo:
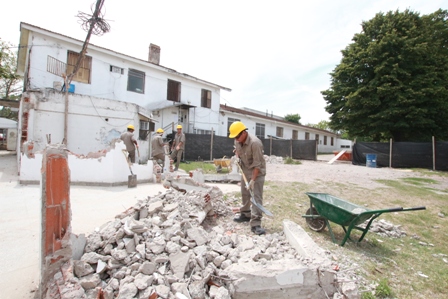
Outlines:
[[[31,49],[29,69],[30,87],[33,89],[52,88],[55,81],[63,84],[63,78],[47,71],[47,58],[51,56],[63,63],[67,61],[67,50],[79,52],[82,47],[80,41],[58,34],[43,31],[31,31],[28,38]],[[89,46],[87,55],[92,57],[92,71],[90,84],[72,81],[75,93],[90,95],[104,99],[119,100],[137,104],[149,111],[156,111],[156,104],[165,101],[167,105],[168,79],[181,83],[181,103],[196,106],[188,113],[185,132],[193,129],[215,130],[219,124],[219,105],[221,89],[212,83],[178,73],[147,61],[136,59],[104,48]],[[110,66],[123,69],[123,74],[113,73]],[[128,71],[136,69],[145,73],[145,91],[143,94],[127,90]],[[212,92],[211,109],[201,107],[201,90]],[[174,112],[174,113],[173,113]],[[178,123],[180,113],[178,108],[169,108],[167,114],[156,116],[156,126],[165,127],[170,123]]]

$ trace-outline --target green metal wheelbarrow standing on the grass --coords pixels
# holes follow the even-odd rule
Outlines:
[[[316,232],[320,232],[328,226],[331,239],[333,243],[336,243],[329,221],[339,224],[345,232],[344,239],[340,244],[341,246],[344,246],[345,242],[350,239],[350,233],[353,229],[362,231],[362,235],[357,241],[361,242],[369,231],[372,221],[381,214],[426,209],[426,207],[397,207],[384,210],[370,210],[327,193],[307,192],[306,195],[310,198],[310,208],[302,217],[306,219],[308,226]],[[360,224],[363,224],[367,220],[369,221],[365,227],[360,226]]]

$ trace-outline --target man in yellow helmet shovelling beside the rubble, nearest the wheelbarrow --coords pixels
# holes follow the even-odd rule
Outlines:
[[[241,178],[242,207],[240,208],[240,215],[233,220],[235,222],[249,222],[253,233],[263,235],[266,233],[265,229],[261,227],[263,214],[250,201],[252,192],[255,202],[263,205],[263,185],[266,176],[263,143],[257,136],[249,134],[247,127],[240,121],[230,125],[229,133],[229,138],[235,138],[234,152],[239,160],[241,170],[247,180],[250,180],[246,187],[243,176]]]

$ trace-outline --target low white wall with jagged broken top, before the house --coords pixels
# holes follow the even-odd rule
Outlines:
[[[123,155],[125,146],[115,144],[109,151],[91,153],[86,156],[68,153],[70,183],[73,185],[115,186],[127,185],[131,174]],[[138,157],[136,157],[136,161]],[[21,154],[20,183],[39,184],[41,180],[42,153]],[[153,181],[153,162],[133,164],[132,173],[137,175],[138,183]]]

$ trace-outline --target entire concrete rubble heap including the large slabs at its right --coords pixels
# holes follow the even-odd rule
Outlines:
[[[46,298],[359,298],[295,223],[284,221],[283,233],[237,234],[219,188],[188,178],[164,184],[165,193],[87,236]]]

